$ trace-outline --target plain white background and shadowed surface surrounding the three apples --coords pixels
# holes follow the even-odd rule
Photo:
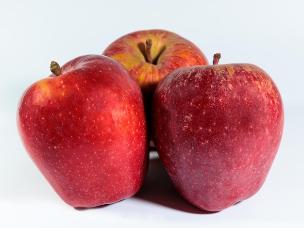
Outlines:
[[[285,106],[281,147],[261,190],[224,211],[206,213],[174,190],[158,160],[140,193],[75,210],[25,152],[17,102],[34,81],[64,64],[101,54],[137,30],[164,29],[195,43],[212,62],[252,63],[276,82]],[[304,227],[304,1],[1,0],[0,227]],[[120,226],[118,226],[120,225]]]

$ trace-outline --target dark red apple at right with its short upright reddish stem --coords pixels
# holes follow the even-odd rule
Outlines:
[[[182,67],[158,84],[152,137],[177,191],[221,211],[263,185],[282,138],[284,110],[270,76],[252,64]]]

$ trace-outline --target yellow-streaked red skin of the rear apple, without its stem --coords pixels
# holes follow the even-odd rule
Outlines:
[[[147,62],[147,39],[152,40],[152,63]],[[110,44],[102,54],[129,70],[148,103],[159,81],[170,71],[182,66],[208,65],[203,52],[192,42],[176,33],[157,29],[126,34]]]

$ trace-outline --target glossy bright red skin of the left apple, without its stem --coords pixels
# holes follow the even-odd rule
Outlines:
[[[148,167],[148,130],[140,87],[118,62],[80,56],[61,75],[20,98],[22,143],[55,192],[72,207],[135,195]]]

